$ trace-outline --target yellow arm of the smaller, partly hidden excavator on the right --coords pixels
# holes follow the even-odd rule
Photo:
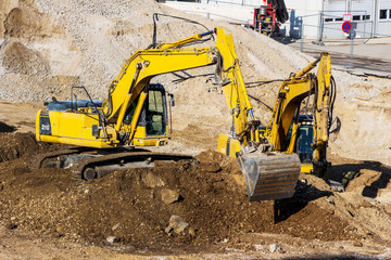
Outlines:
[[[318,70],[315,76],[310,72],[316,65],[318,65]],[[304,99],[312,96],[314,138],[312,142],[313,167],[311,170],[320,177],[326,173],[329,165],[326,160],[326,147],[335,96],[331,82],[330,56],[327,53],[321,53],[319,58],[282,82],[265,133],[276,151],[294,153],[301,105]],[[308,110],[308,107],[306,108],[305,110]],[[290,134],[288,134],[289,132]]]

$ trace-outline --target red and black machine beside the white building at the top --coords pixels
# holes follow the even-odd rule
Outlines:
[[[264,4],[254,9],[253,28],[261,34],[275,36],[280,24],[288,18],[283,0],[263,0]]]

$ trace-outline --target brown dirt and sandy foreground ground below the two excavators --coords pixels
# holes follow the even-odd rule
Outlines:
[[[27,115],[39,104],[2,101],[1,107],[26,115],[1,126],[1,259],[391,257],[390,168],[384,165],[331,156],[331,179],[360,172],[344,193],[301,176],[293,198],[260,203],[248,202],[236,160],[207,146],[197,155],[199,167],[159,165],[84,182],[66,170],[29,168],[33,155],[59,148],[22,131],[30,130],[34,120]],[[187,145],[197,145],[194,140]],[[180,198],[166,204],[167,192]],[[172,216],[189,224],[184,233],[166,233]]]

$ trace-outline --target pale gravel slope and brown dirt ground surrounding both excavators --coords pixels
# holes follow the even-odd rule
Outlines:
[[[125,60],[151,43],[154,12],[187,17],[152,0],[0,3],[0,259],[391,259],[391,80],[343,66],[332,65],[341,125],[328,147],[328,179],[354,176],[343,192],[301,174],[292,198],[250,203],[236,159],[215,152],[231,120],[213,67],[153,79],[176,103],[169,144],[154,150],[193,155],[199,166],[156,164],[87,182],[31,169],[34,156],[64,147],[35,140],[43,102],[68,100],[81,84],[106,98]],[[232,32],[255,116],[267,123],[280,80],[314,57],[191,18]],[[160,41],[205,30],[163,16],[157,26]]]

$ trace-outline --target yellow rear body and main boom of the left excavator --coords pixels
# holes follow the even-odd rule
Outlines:
[[[216,63],[215,48],[178,48],[207,34],[199,34],[178,42],[162,43],[159,49],[137,51],[125,62],[121,73],[112,81],[108,99],[98,108],[98,113],[85,107],[77,110],[40,112],[37,121],[43,119],[47,126],[37,123],[37,140],[96,148],[131,143],[148,86],[153,77]],[[131,122],[125,126],[123,122],[131,104],[136,104],[136,109]],[[50,134],[41,131],[42,127],[50,128]]]

